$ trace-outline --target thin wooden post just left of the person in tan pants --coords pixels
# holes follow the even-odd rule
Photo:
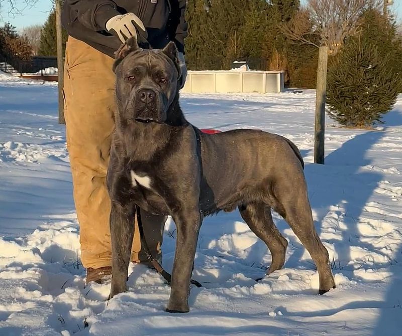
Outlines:
[[[59,88],[59,124],[65,124],[63,98],[63,41],[61,37],[61,0],[56,0],[57,80]]]

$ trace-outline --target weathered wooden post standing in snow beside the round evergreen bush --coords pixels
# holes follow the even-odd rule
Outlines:
[[[314,162],[324,164],[325,99],[327,91],[328,46],[318,51]]]

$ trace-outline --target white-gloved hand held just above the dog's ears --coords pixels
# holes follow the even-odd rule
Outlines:
[[[146,43],[148,33],[144,24],[134,13],[117,15],[109,19],[106,23],[108,32],[115,34],[125,43],[128,38],[134,36],[138,43]]]

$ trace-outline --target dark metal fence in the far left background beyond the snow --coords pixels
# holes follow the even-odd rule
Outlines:
[[[29,61],[23,61],[0,55],[0,70],[15,76],[54,76],[57,75],[57,58],[36,56]]]

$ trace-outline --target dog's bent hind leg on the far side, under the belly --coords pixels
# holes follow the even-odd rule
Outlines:
[[[276,228],[271,215],[271,208],[264,203],[249,203],[239,206],[240,215],[258,238],[271,252],[272,261],[267,274],[281,269],[285,263],[287,240]]]

